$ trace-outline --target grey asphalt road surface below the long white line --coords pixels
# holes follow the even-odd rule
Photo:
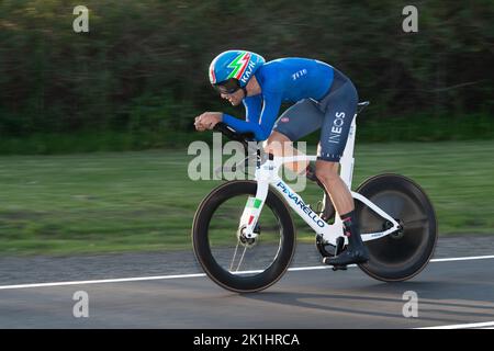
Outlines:
[[[290,271],[267,291],[247,295],[224,291],[205,276],[3,284],[0,328],[423,328],[492,322],[482,325],[489,327],[494,326],[493,264],[494,257],[436,261],[413,280],[393,284],[374,281],[358,268]],[[74,316],[78,291],[89,297],[87,318]],[[403,316],[408,291],[417,294],[417,317]]]

